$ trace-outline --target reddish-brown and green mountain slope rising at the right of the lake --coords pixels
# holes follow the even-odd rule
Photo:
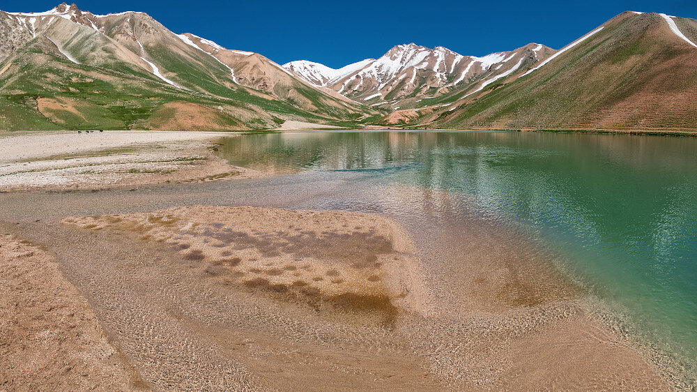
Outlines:
[[[695,129],[694,42],[695,20],[622,13],[548,61],[413,123],[446,128]]]

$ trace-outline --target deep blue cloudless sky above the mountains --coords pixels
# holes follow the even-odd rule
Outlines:
[[[38,12],[59,1],[3,3],[2,10]],[[95,14],[144,11],[175,33],[194,33],[278,63],[306,59],[334,68],[411,42],[473,56],[531,42],[558,49],[625,10],[697,19],[694,0],[81,0],[77,6]]]

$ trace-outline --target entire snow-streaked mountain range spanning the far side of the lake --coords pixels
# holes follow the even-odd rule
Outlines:
[[[145,13],[62,3],[0,11],[0,129],[697,130],[696,42],[696,20],[627,11],[560,50],[411,43],[339,69],[280,66]]]

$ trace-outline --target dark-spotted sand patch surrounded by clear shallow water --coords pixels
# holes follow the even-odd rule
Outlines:
[[[370,324],[391,324],[397,308],[422,306],[411,244],[396,223],[379,216],[186,206],[63,223],[167,244],[204,278]]]

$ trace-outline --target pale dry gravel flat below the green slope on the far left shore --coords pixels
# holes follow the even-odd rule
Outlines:
[[[0,191],[103,189],[250,178],[208,142],[229,133],[105,131],[0,135]]]

